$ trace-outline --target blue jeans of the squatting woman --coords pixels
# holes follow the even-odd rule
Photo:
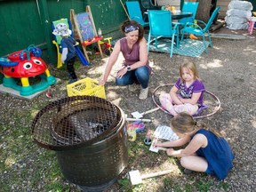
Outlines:
[[[116,84],[125,86],[128,84],[141,84],[143,89],[148,87],[150,70],[147,66],[136,68],[132,71],[127,71],[122,78],[116,78]]]

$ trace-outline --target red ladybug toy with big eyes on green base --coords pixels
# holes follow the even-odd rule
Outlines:
[[[40,58],[41,54],[39,48],[30,45],[26,50],[12,52],[7,58],[0,58],[3,85],[20,92],[22,96],[28,96],[55,84],[57,80],[51,76],[44,60]],[[29,78],[32,77],[39,83],[30,85]]]

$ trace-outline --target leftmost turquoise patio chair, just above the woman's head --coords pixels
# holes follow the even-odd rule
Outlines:
[[[130,20],[136,20],[143,27],[147,27],[149,25],[148,22],[145,22],[142,17],[140,4],[138,1],[126,2],[125,4],[129,13]]]

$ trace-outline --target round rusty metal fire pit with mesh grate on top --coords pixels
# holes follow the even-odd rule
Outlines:
[[[37,113],[32,136],[55,150],[65,178],[87,191],[108,188],[128,162],[124,112],[98,97],[53,101]]]

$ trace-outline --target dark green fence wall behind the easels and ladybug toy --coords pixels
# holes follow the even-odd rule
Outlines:
[[[70,9],[85,12],[86,5],[104,36],[120,35],[119,26],[127,19],[120,0],[0,0],[0,57],[35,44],[43,50],[43,59],[55,64],[52,21],[69,19]]]

